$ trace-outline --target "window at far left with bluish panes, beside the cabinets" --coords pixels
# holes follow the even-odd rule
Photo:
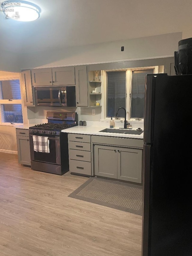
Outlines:
[[[1,77],[0,123],[23,123],[19,77]]]

